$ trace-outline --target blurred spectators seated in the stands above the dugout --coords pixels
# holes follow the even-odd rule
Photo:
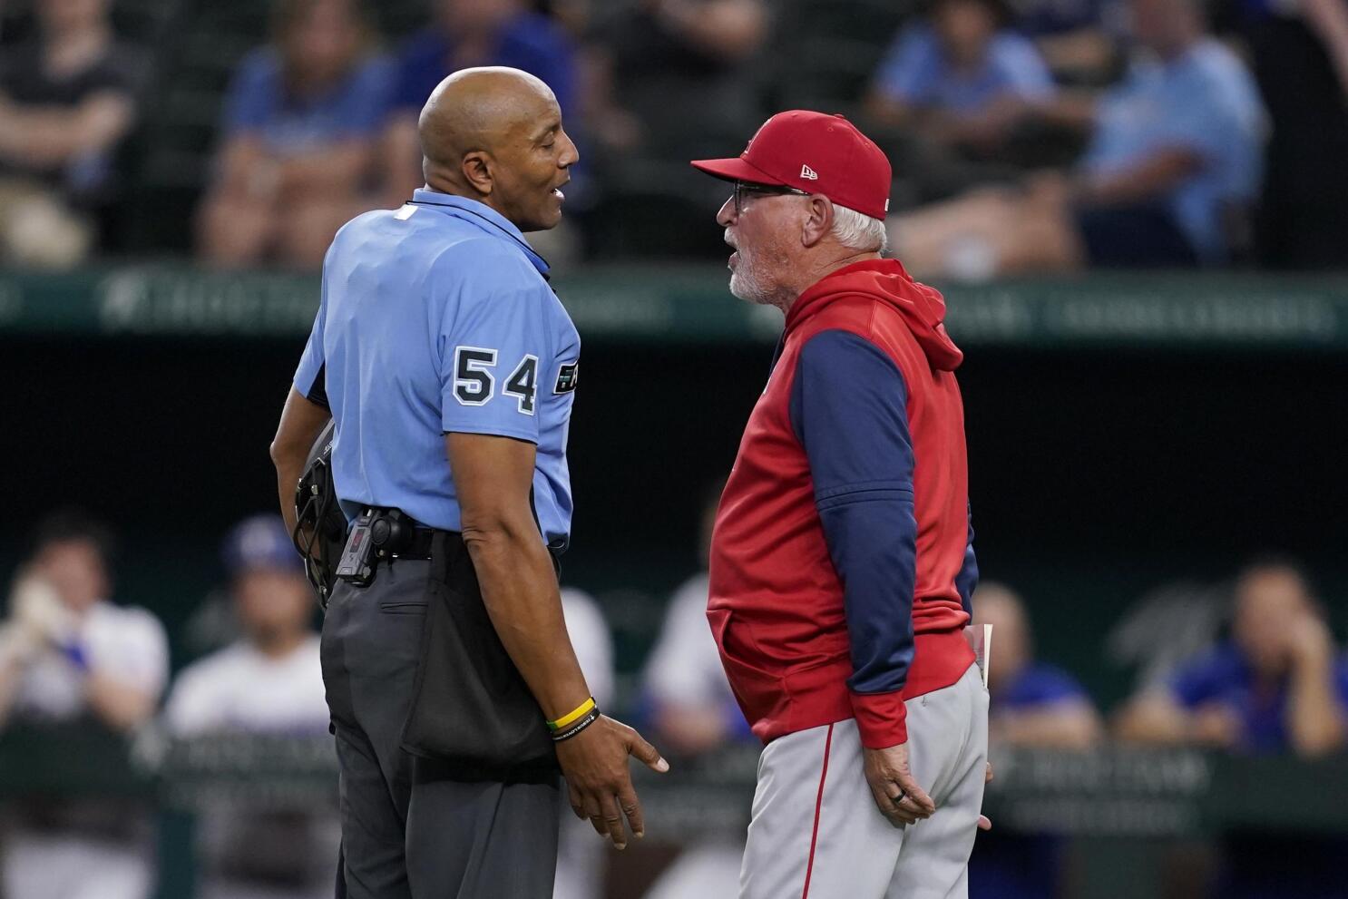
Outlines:
[[[686,160],[802,105],[887,150],[891,244],[923,276],[1344,264],[1344,0],[415,3],[399,35],[361,0],[267,3],[182,210],[201,260],[315,267],[422,183],[430,89],[506,65],[553,88],[581,148],[568,224],[537,236],[561,260],[714,247],[721,198]],[[171,115],[174,66],[119,40],[112,0],[31,5],[0,34],[0,257],[70,266],[137,209],[125,144]]]

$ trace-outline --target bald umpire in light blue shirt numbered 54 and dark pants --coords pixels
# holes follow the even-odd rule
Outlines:
[[[333,240],[271,447],[294,526],[336,421],[338,881],[353,899],[551,896],[558,772],[623,848],[624,817],[643,830],[628,755],[667,770],[594,706],[558,598],[580,338],[523,232],[558,224],[578,156],[551,90],[515,69],[450,75],[419,127],[426,187]]]

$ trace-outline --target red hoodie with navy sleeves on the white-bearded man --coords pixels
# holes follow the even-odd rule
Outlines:
[[[744,429],[712,538],[708,619],[764,743],[903,701],[973,662],[964,407],[941,295],[895,260],[805,291]]]

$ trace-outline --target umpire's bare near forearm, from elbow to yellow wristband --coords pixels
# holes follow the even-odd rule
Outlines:
[[[553,559],[531,516],[515,522],[464,522],[464,542],[477,571],[492,625],[549,720],[589,697],[566,632]]]

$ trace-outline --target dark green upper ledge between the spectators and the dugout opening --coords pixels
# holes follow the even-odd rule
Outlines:
[[[780,332],[775,310],[729,295],[716,264],[582,268],[554,284],[586,340],[767,342]],[[948,328],[968,346],[1348,346],[1348,275],[1097,274],[942,287]],[[183,264],[0,272],[0,337],[302,337],[318,292],[314,275]]]

